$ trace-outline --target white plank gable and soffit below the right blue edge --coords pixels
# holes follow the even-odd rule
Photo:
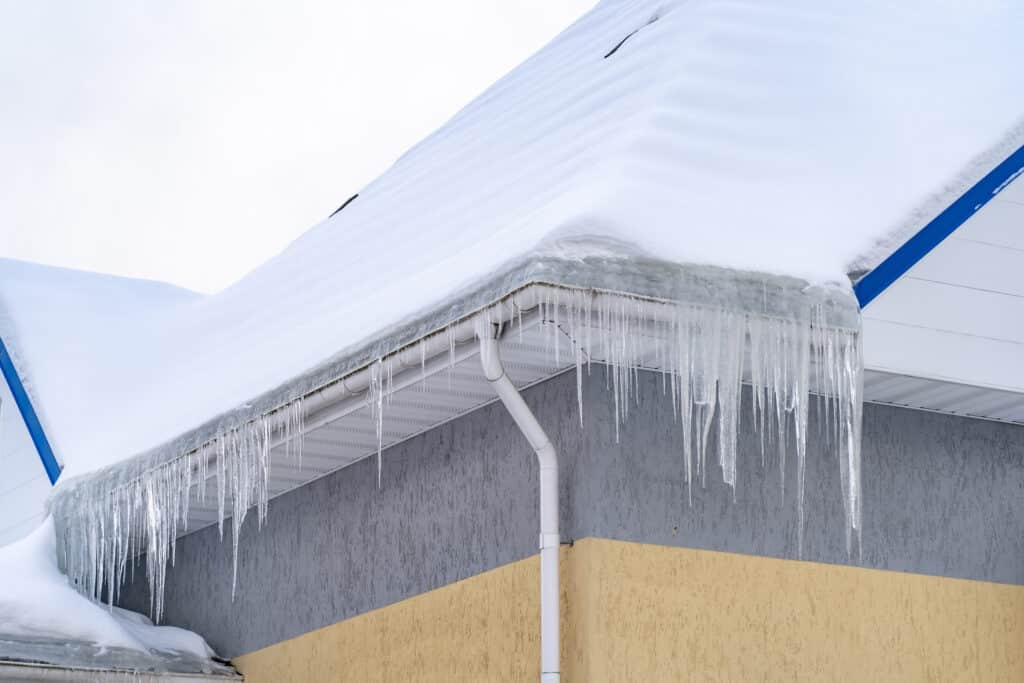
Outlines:
[[[867,400],[1024,423],[1024,176],[864,308]]]

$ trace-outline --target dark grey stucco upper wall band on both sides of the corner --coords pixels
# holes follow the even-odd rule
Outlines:
[[[603,537],[797,557],[795,466],[782,500],[774,463],[743,423],[736,500],[713,469],[686,502],[681,436],[660,380],[614,438],[603,373],[526,392],[562,457],[564,539]],[[749,413],[744,415],[746,417]],[[848,558],[838,465],[812,414],[804,559],[1024,585],[1024,428],[866,405],[863,553]],[[229,539],[215,527],[179,541],[166,622],[225,656],[252,651],[536,552],[534,455],[497,404],[270,503],[242,532],[230,599]],[[225,535],[229,531],[225,531]],[[123,604],[144,610],[144,581]]]

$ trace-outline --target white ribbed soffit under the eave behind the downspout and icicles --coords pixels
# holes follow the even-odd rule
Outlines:
[[[615,298],[615,295],[611,297]],[[528,291],[524,298],[529,299]],[[626,301],[632,303],[627,305]],[[613,357],[625,352],[634,368],[658,372],[667,368],[666,361],[671,366],[666,351],[666,328],[662,327],[664,321],[656,321],[654,315],[648,316],[647,305],[651,309],[663,308],[660,303],[640,304],[639,300],[632,298],[611,307],[622,310],[624,316],[629,318],[629,332],[602,319],[601,314],[595,312],[591,323],[585,326],[586,334],[578,330],[577,337],[572,337],[571,325],[566,325],[564,319],[559,321],[559,315],[565,314],[564,303],[542,306],[540,310],[528,308],[527,313],[513,317],[505,329],[501,338],[503,366],[512,382],[522,389],[564,371],[573,371],[577,362],[574,349],[579,346],[580,360],[584,364],[581,372],[607,378],[607,399],[613,400],[614,380],[607,374],[611,366],[605,364],[609,348],[615,349],[611,351]],[[559,313],[559,310],[562,312]],[[628,350],[622,351],[624,342],[621,336],[626,334],[629,334],[629,343],[625,344]],[[388,447],[497,400],[480,367],[475,337],[459,342],[454,337],[450,339],[453,340],[450,351],[445,349],[438,355],[423,357],[422,365],[417,364],[394,375],[391,389],[385,391],[387,395],[382,399],[383,419],[380,422],[371,409],[370,394],[340,399],[328,403],[313,416],[307,414],[301,457],[289,454],[286,444],[278,445],[271,452],[268,498],[273,499],[303,486],[365,458],[377,457],[379,445],[385,451],[383,467],[386,470]],[[743,368],[749,381],[752,368],[749,348],[746,354]],[[815,370],[813,354],[810,361],[810,389],[814,391],[820,376]],[[666,400],[673,400],[668,397],[670,384],[663,385],[667,392]],[[582,400],[582,396],[580,398]],[[317,418],[324,415],[329,417]],[[382,429],[380,444],[379,426]],[[525,441],[521,447],[524,458],[532,457]],[[188,526],[179,529],[178,536],[216,523],[219,516],[217,486],[209,481],[215,475],[215,469],[210,468],[205,498],[198,482],[193,484]],[[230,502],[225,501],[225,506],[226,518],[230,514]]]

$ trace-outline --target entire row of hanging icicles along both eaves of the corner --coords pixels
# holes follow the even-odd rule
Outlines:
[[[762,464],[766,447],[776,447],[784,481],[791,450],[797,461],[801,551],[808,410],[815,395],[824,416],[826,442],[840,466],[847,549],[851,551],[856,542],[859,550],[862,362],[857,331],[826,326],[820,309],[808,310],[801,319],[783,319],[622,295],[595,296],[591,291],[544,288],[543,292],[540,321],[549,331],[546,345],[559,367],[575,365],[581,424],[583,375],[592,364],[605,368],[616,438],[618,424],[635,410],[640,372],[660,373],[664,395],[682,426],[681,452],[690,492],[694,480],[707,481],[713,430],[717,430],[717,465],[725,482],[735,487],[740,395],[743,383],[750,384]],[[489,323],[492,317],[498,319],[496,310],[479,315]],[[521,334],[521,310],[519,315],[518,326],[515,321],[504,325],[519,327]],[[451,334],[450,338],[450,365],[454,365],[455,341]],[[425,367],[426,342],[420,344]],[[367,391],[377,424],[378,476],[394,357],[373,364]],[[242,523],[249,508],[255,507],[262,525],[271,460],[301,459],[303,420],[300,398],[113,486],[86,481],[57,497],[53,512],[65,521],[63,564],[71,581],[86,595],[96,600],[105,597],[114,604],[119,588],[134,579],[134,559],[144,554],[151,613],[159,621],[167,566],[174,563],[175,539],[186,527],[191,497],[207,501],[208,480],[215,479],[221,538],[225,515],[232,521],[233,598]]]

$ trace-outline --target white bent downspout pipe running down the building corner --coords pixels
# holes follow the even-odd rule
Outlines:
[[[489,328],[489,329],[487,329]],[[558,454],[544,428],[505,374],[498,348],[499,327],[480,326],[480,362],[519,430],[537,452],[541,465],[541,681],[559,680],[558,611]]]

